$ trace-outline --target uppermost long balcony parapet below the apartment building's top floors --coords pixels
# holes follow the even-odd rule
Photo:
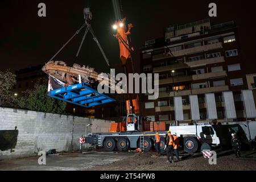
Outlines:
[[[210,51],[213,49],[220,49],[222,48],[222,43],[215,43],[215,44],[207,44],[204,46],[197,46],[197,47],[193,47],[193,48],[187,48],[187,49],[182,49],[179,51],[173,51],[172,55],[167,55],[167,54],[159,54],[159,55],[154,55],[152,57],[152,61],[157,61],[157,60],[162,60],[162,59],[167,59],[170,57],[177,57],[177,56],[184,56],[184,55],[191,55],[193,53],[197,53],[197,52],[205,52],[205,51]]]

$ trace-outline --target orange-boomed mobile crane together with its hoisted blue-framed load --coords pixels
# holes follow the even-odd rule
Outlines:
[[[112,0],[112,3],[116,19],[113,28],[117,31],[114,37],[118,39],[120,59],[124,72],[127,75],[131,72],[134,73],[133,60],[131,58],[131,53],[134,51],[134,48],[131,46],[130,39],[133,24],[129,23],[126,26],[126,18],[121,17],[119,0]],[[106,63],[109,64],[104,51],[93,33],[92,27],[90,27],[89,22],[92,19],[92,13],[90,12],[89,6],[86,6],[84,9],[84,15],[85,24],[82,27],[87,27],[84,38],[88,31],[92,33],[94,40],[106,60]],[[77,31],[75,35],[77,35],[79,31]],[[79,55],[84,38],[82,39],[76,57]],[[71,39],[69,39],[68,42],[70,42]],[[67,45],[67,43],[64,44],[60,51]],[[56,55],[60,51],[58,51]],[[52,59],[55,56],[53,56]],[[57,87],[55,90],[50,88],[48,96],[85,107],[92,107],[113,101],[112,98],[99,94],[90,88],[88,83],[96,81],[98,76],[98,73],[94,72],[94,69],[85,66],[80,67],[76,64],[73,67],[67,67],[65,63],[61,61],[52,61],[52,59],[43,67],[43,71],[49,75],[52,82],[56,83],[55,85],[59,84],[61,87]],[[79,84],[75,84],[78,81]],[[53,83],[49,84],[49,87],[51,86],[53,87]],[[155,131],[148,131],[145,129],[145,125],[151,122],[150,118],[142,117],[140,115],[141,110],[137,94],[126,94],[126,112],[127,116],[123,122],[112,123],[112,132],[91,134],[85,138],[85,143],[104,147],[107,151],[113,151],[115,148],[119,151],[127,151],[129,148],[141,148],[141,150],[146,152],[151,150],[154,146]],[[211,146],[220,146],[221,144],[221,139],[218,137],[217,130],[212,125],[170,126],[169,130],[176,133],[178,137],[183,139],[184,150],[189,153],[196,152],[199,149],[201,139],[206,138],[207,136],[212,138],[212,140],[206,140],[206,142]],[[159,135],[160,152],[164,152],[166,131],[159,131]]]

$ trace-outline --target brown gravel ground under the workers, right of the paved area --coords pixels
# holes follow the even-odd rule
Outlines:
[[[96,166],[86,170],[97,171],[255,171],[256,154],[247,155],[242,153],[242,158],[234,155],[220,156],[217,158],[217,165],[210,165],[203,156],[184,159],[176,163],[166,163],[166,156],[157,157],[155,152],[135,154],[131,157],[104,166]],[[247,156],[245,156],[247,155]]]

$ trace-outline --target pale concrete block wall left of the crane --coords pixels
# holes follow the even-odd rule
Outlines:
[[[0,107],[0,160],[32,156],[40,150],[78,150],[88,123],[93,125],[87,134],[109,132],[111,122]]]

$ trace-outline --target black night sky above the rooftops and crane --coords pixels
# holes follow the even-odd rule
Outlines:
[[[38,16],[38,3],[47,6],[47,17]],[[255,6],[253,1],[157,1],[122,0],[123,14],[134,24],[133,44],[135,67],[139,68],[139,49],[148,39],[163,37],[164,28],[176,23],[189,23],[209,18],[208,5],[217,3],[213,23],[234,20],[238,26],[243,60],[247,73],[255,73]],[[1,71],[15,71],[46,63],[84,23],[84,1],[5,1],[0,2],[0,61]],[[110,65],[120,64],[119,46],[113,37],[114,11],[110,0],[92,0],[92,27]],[[82,31],[56,57],[73,64],[82,39]],[[109,72],[101,52],[88,34],[76,63],[90,65],[96,71]]]

